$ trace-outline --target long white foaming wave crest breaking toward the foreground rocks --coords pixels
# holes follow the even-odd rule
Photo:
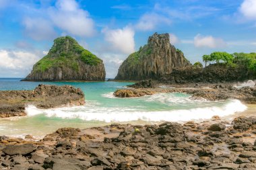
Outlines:
[[[136,108],[87,108],[78,106],[73,108],[57,108],[40,110],[32,105],[26,108],[28,116],[44,114],[48,117],[58,118],[79,118],[86,121],[96,120],[102,122],[129,122],[144,120],[150,122],[174,121],[183,122],[189,120],[210,119],[212,116],[228,116],[236,112],[244,112],[247,109],[241,101],[231,100],[222,107],[195,108],[191,110],[170,110],[147,112],[139,111]]]

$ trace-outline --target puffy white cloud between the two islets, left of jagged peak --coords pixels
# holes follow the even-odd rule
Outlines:
[[[131,54],[134,52],[135,42],[134,42],[134,30],[129,26],[126,26],[123,29],[110,30],[104,28],[102,30],[104,38],[107,42],[110,42],[113,50],[123,52],[125,54]]]

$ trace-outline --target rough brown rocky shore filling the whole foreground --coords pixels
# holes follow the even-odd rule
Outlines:
[[[256,169],[256,117],[0,136],[0,169]]]

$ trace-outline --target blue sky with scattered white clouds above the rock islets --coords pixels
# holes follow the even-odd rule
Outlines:
[[[192,63],[214,51],[256,52],[256,0],[0,0],[0,77],[26,77],[65,35],[115,77],[154,32],[169,33]]]

